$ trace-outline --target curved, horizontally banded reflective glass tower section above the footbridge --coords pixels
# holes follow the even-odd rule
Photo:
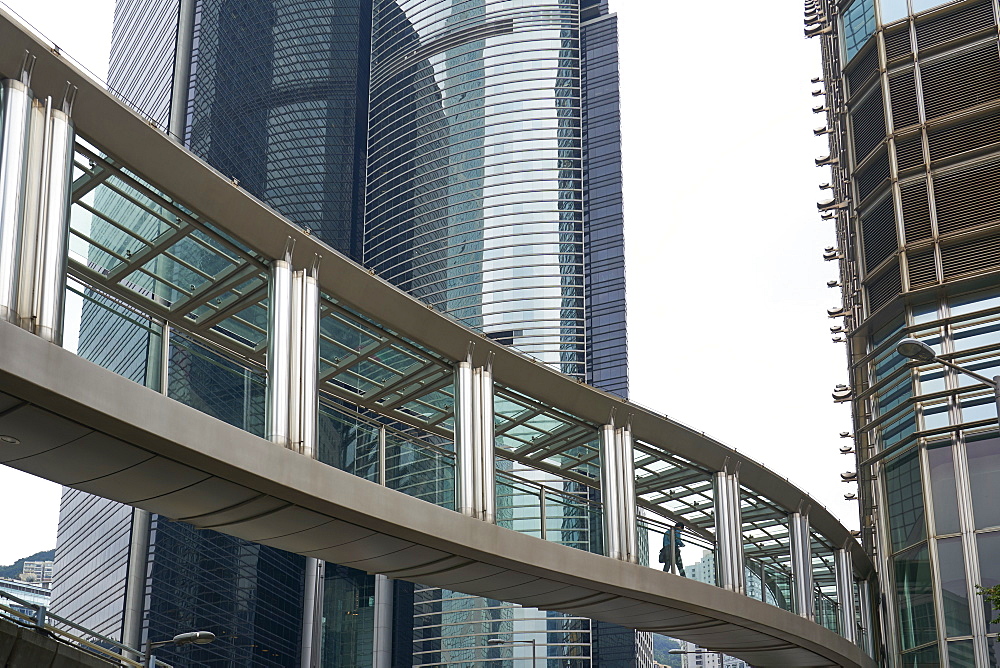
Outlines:
[[[377,0],[365,263],[583,377],[578,0]]]

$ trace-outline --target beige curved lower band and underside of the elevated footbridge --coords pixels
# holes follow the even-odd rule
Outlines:
[[[0,463],[371,573],[681,638],[754,666],[872,666],[761,601],[546,542],[278,447],[0,322]]]

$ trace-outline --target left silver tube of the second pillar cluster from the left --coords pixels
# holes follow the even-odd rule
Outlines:
[[[267,305],[267,439],[289,444],[292,346],[292,267],[288,259],[271,264]]]

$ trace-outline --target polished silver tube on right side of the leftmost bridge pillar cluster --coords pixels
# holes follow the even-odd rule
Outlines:
[[[35,289],[38,317],[35,333],[62,345],[66,265],[69,259],[69,197],[73,177],[73,123],[69,114],[49,115],[48,165],[38,230],[39,270]]]

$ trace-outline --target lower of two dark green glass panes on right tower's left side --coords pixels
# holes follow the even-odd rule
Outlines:
[[[893,559],[893,573],[896,579],[896,611],[899,615],[902,649],[905,651],[933,642],[937,633],[927,546],[921,545]]]

